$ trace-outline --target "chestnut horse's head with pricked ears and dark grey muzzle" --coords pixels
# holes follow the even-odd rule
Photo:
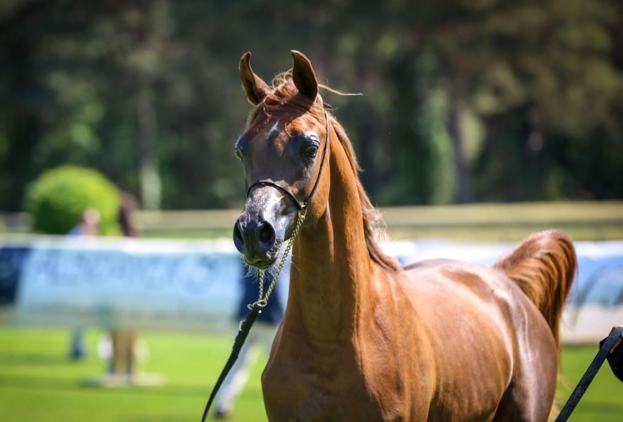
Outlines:
[[[293,50],[292,70],[272,87],[253,72],[250,55],[240,59],[242,87],[255,108],[235,143],[247,199],[234,225],[234,244],[247,264],[264,269],[275,263],[299,218],[306,216],[307,226],[325,212],[329,120],[305,55]]]

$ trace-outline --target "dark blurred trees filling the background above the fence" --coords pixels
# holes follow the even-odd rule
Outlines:
[[[619,0],[8,0],[0,4],[0,210],[54,166],[145,208],[226,208],[266,80],[312,59],[379,205],[623,197]]]

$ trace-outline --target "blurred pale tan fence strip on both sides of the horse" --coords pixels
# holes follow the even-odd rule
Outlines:
[[[464,239],[516,241],[549,228],[566,231],[572,239],[623,239],[623,201],[466,204],[381,208],[392,239]],[[148,237],[229,237],[239,209],[142,211]],[[29,231],[24,213],[3,214],[12,232]]]

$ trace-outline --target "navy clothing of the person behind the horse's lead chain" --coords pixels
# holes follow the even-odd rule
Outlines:
[[[246,272],[246,269],[242,269],[242,271]],[[269,272],[266,272],[265,274],[263,294],[266,294],[266,290],[269,289],[269,285],[273,279],[272,274],[269,274]],[[240,297],[236,317],[238,319],[244,319],[244,317],[249,314],[249,308],[247,305],[257,302],[257,298],[260,293],[260,284],[259,279],[256,279],[252,275],[243,276],[240,281],[242,282],[242,297]],[[282,282],[282,280],[278,280],[277,282]],[[264,309],[262,309],[262,312],[257,315],[257,320],[275,325],[279,324],[283,319],[283,308],[282,300],[279,297],[277,288],[275,288],[270,295],[268,304],[264,307]]]

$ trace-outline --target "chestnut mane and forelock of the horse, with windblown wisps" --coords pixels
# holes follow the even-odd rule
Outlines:
[[[330,89],[326,85],[319,85],[323,89],[327,89],[330,92],[336,94],[342,94],[336,90]],[[349,94],[343,94],[349,95]],[[279,116],[280,118],[287,118],[293,120],[294,118],[300,118],[304,124],[312,125],[313,120],[316,123],[324,125],[325,122],[325,110],[328,108],[325,103],[317,101],[311,101],[309,98],[301,95],[298,92],[292,81],[292,70],[287,70],[275,76],[272,80],[272,92],[267,95],[264,100],[254,108],[249,116],[249,124],[256,122],[260,117],[260,114],[264,113],[265,118],[261,121],[266,122],[268,118]],[[374,262],[380,266],[388,269],[389,271],[398,271],[400,268],[399,262],[391,256],[388,256],[383,252],[383,249],[379,245],[379,237],[384,236],[385,231],[379,228],[379,222],[382,221],[381,213],[372,204],[368,193],[364,189],[361,178],[359,178],[359,172],[361,167],[357,162],[356,155],[354,153],[353,144],[348,139],[348,135],[340,122],[333,116],[330,110],[326,110],[327,116],[330,119],[331,127],[335,130],[338,140],[346,153],[348,162],[353,170],[353,176],[355,178],[359,199],[361,200],[361,211],[363,214],[363,229],[364,237],[366,239],[366,246],[368,246],[368,252]]]

